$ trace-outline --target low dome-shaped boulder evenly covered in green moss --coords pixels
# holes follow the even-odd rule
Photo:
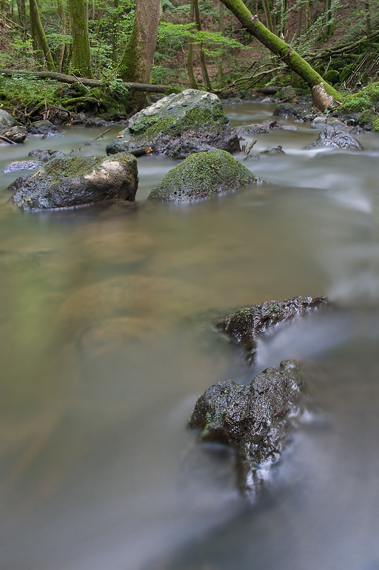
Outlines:
[[[199,152],[172,168],[149,199],[190,202],[232,192],[259,181],[250,170],[225,150]]]

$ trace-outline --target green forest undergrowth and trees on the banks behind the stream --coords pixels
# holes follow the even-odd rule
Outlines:
[[[145,41],[145,48],[153,50],[145,77],[127,58],[135,1],[0,0],[0,73],[12,71],[0,75],[1,108],[16,110],[19,118],[38,118],[43,104],[45,111],[63,105],[69,111],[92,109],[107,119],[123,118],[128,114],[128,81],[175,90],[204,88],[242,98],[256,89],[288,84],[306,93],[306,83],[251,36],[222,2],[139,3],[147,6],[145,24],[157,20],[157,33],[151,32],[156,46]],[[354,92],[378,81],[378,0],[245,4],[336,89]],[[17,75],[21,70],[31,75]],[[100,89],[85,88],[79,81],[76,90],[67,93],[56,81],[35,81],[33,73],[43,70],[79,80],[95,78]]]

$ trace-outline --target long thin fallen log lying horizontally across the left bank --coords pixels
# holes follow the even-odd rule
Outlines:
[[[25,76],[37,79],[53,79],[61,83],[81,83],[85,87],[104,87],[103,81],[98,79],[88,79],[86,77],[79,78],[67,76],[66,73],[56,73],[55,71],[19,71],[17,69],[0,69],[0,74],[4,76]],[[133,91],[148,91],[150,93],[165,93],[170,89],[165,85],[151,85],[150,83],[128,83],[120,81],[120,86],[127,87]]]

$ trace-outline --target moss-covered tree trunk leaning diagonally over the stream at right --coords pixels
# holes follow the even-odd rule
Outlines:
[[[280,58],[281,61],[286,63],[292,71],[295,71],[309,87],[314,87],[323,83],[323,86],[328,95],[332,95],[336,101],[341,101],[341,95],[329,83],[323,81],[323,78],[317,71],[315,71],[307,61],[305,61],[298,53],[289,46],[284,40],[275,36],[274,33],[269,31],[259,19],[254,17],[251,12],[246,8],[242,0],[220,0],[227,8],[232,11],[234,16],[239,19],[242,26],[246,28],[251,36],[263,43],[266,48],[269,48],[272,53]]]

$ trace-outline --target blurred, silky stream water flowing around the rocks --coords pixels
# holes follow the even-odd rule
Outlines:
[[[234,125],[273,105],[228,105]],[[306,151],[257,135],[270,185],[195,204],[146,201],[175,165],[138,159],[136,204],[21,214],[0,177],[0,567],[4,570],[379,569],[379,137]],[[0,147],[105,154],[118,128]],[[252,137],[249,138],[252,140]],[[243,156],[239,156],[242,160]],[[210,323],[267,299],[335,309],[262,343],[251,370]],[[233,457],[199,448],[197,396],[301,358],[308,413],[246,504]]]

